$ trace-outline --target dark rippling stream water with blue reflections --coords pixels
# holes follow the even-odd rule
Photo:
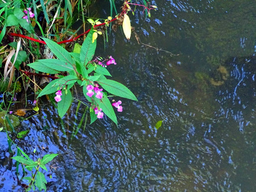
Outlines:
[[[144,44],[179,55],[120,31],[106,51],[98,40],[97,55],[116,60],[112,79],[138,97],[122,99],[118,127],[105,117],[71,140],[85,108],[75,115],[74,102],[61,124],[45,103],[15,142],[33,159],[60,154],[52,179],[46,174],[49,191],[255,191],[255,2],[151,3],[157,11],[145,18],[137,8],[132,26]],[[0,191],[22,191],[6,133],[0,138]]]

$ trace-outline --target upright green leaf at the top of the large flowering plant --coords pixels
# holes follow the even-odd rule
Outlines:
[[[84,67],[86,67],[85,65],[92,60],[93,55],[95,53],[95,49],[96,49],[96,40],[92,43],[92,35],[93,35],[94,31],[93,28],[91,29],[90,33],[86,36],[83,45],[82,45],[82,49],[81,49],[81,53],[80,53],[80,60],[81,63]]]

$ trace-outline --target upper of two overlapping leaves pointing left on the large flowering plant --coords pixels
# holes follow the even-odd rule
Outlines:
[[[58,70],[58,71],[74,70],[74,67],[70,65],[70,63],[67,63],[61,60],[45,59],[45,60],[38,60],[38,62],[42,63],[46,67],[52,68],[53,70]]]

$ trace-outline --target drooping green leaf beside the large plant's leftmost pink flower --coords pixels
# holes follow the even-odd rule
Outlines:
[[[68,111],[70,104],[72,103],[72,94],[70,90],[65,93],[65,90],[62,90],[61,101],[58,102],[58,114],[62,118]]]

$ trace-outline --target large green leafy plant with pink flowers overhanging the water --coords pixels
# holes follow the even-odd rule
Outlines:
[[[67,113],[72,104],[73,97],[70,90],[77,83],[83,86],[84,97],[90,102],[91,123],[97,118],[102,118],[103,113],[105,113],[117,124],[115,111],[113,110],[115,103],[111,104],[108,93],[126,99],[137,99],[124,84],[107,79],[106,76],[111,76],[111,74],[109,74],[106,67],[111,64],[116,65],[111,56],[105,60],[106,65],[100,58],[92,60],[97,44],[93,34],[95,34],[95,30],[92,29],[84,40],[80,53],[77,53],[77,51],[68,52],[55,42],[44,38],[45,43],[58,59],[38,60],[28,66],[40,72],[51,74],[60,74],[62,72],[62,74],[67,74],[51,81],[38,95],[38,97],[42,97],[43,95],[56,93],[55,100],[58,102],[58,114],[60,117]],[[108,93],[103,93],[103,89]],[[121,107],[120,105],[118,106],[119,108]],[[95,118],[96,115],[97,118]]]

